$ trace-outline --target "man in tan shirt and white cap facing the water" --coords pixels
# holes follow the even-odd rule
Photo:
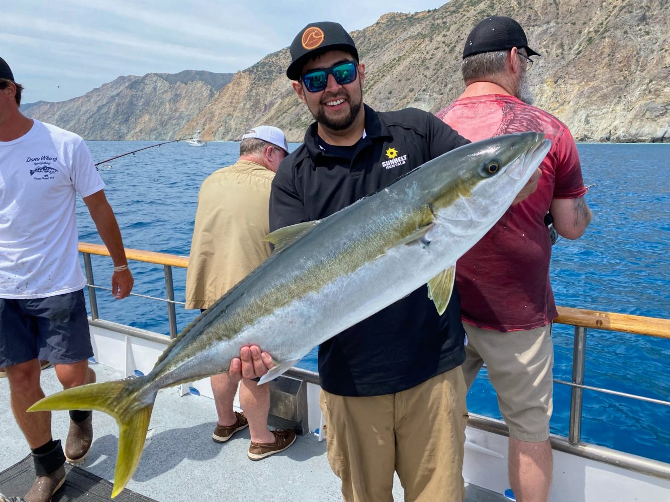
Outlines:
[[[186,273],[187,309],[209,309],[270,256],[269,244],[263,240],[269,234],[270,187],[286,155],[288,146],[281,129],[255,127],[243,135],[237,163],[218,169],[202,183]],[[292,430],[267,428],[268,386],[243,379],[240,404],[244,412],[239,413],[232,409],[237,381],[222,373],[212,376],[211,382],[218,414],[214,441],[226,442],[249,426],[248,456],[254,461],[293,444]]]

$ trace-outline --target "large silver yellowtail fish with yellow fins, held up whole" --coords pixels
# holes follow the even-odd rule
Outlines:
[[[507,210],[550,145],[541,133],[465,145],[328,218],[272,232],[275,252],[188,325],[148,375],[64,390],[29,410],[92,409],[117,420],[115,497],[139,463],[159,389],[227,371],[244,345],[273,357],[262,384],[423,284],[443,313],[456,260]]]

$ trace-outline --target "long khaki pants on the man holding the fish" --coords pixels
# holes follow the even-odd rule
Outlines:
[[[396,394],[322,390],[328,462],[342,480],[344,501],[393,501],[394,471],[405,501],[462,501],[465,394],[460,367]]]

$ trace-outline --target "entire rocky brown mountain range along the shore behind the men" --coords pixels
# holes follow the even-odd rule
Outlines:
[[[451,0],[383,15],[352,32],[366,64],[365,102],[377,110],[444,108],[463,89],[465,37],[491,14],[523,25],[543,55],[529,70],[535,104],[578,141],[670,141],[670,0]],[[289,61],[287,49],[269,54],[218,92],[157,74],[125,85],[119,80],[131,77],[121,77],[100,88],[115,88],[113,100],[111,89],[107,99],[92,91],[30,112],[86,139],[175,139],[202,129],[202,139],[235,140],[273,124],[302,141],[313,118],[284,74]]]

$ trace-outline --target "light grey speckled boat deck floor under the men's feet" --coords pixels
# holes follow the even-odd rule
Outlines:
[[[98,382],[123,378],[123,372],[92,364]],[[42,371],[45,394],[60,390],[53,367]],[[9,385],[0,379],[0,471],[21,461],[29,452],[9,408]],[[216,422],[214,401],[204,396],[180,397],[176,389],[161,390],[151,416],[144,452],[127,487],[157,501],[339,501],[340,483],[326,459],[326,442],[314,434],[298,437],[285,452],[263,461],[247,458],[249,430],[224,444],[212,441]],[[94,441],[83,469],[113,481],[117,456],[117,424],[107,414],[94,412]],[[64,439],[68,414],[54,412],[54,438]],[[0,487],[2,492],[2,487]],[[502,495],[470,485],[468,502],[498,502]],[[4,495],[23,495],[4,493]],[[395,478],[393,499],[403,500]]]

